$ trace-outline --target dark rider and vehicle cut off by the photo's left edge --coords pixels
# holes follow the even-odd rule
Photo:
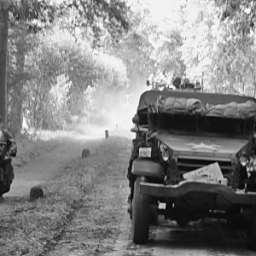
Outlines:
[[[17,154],[17,144],[9,131],[0,124],[0,197],[9,192],[15,177],[11,157]]]

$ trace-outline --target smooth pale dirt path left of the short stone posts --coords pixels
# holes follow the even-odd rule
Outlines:
[[[95,154],[95,140],[104,137],[104,130],[97,130],[89,135],[74,133],[73,136],[59,138],[59,146],[34,158],[26,166],[15,166],[15,180],[5,198],[29,196],[32,186],[42,184],[61,175],[63,167],[79,159],[83,148],[90,148]]]

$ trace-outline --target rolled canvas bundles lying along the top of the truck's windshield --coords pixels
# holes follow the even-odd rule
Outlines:
[[[256,103],[247,101],[204,105],[199,99],[195,98],[159,96],[154,104],[148,106],[148,111],[150,113],[189,114],[245,119],[253,116],[256,117]]]

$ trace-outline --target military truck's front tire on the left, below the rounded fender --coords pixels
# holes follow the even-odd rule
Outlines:
[[[137,177],[132,199],[131,238],[136,244],[147,243],[149,232],[149,196],[140,194],[142,180],[144,178]]]

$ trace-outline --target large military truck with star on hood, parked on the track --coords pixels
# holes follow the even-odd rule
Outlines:
[[[256,247],[256,100],[191,91],[146,91],[134,116],[128,178],[132,241],[158,216],[186,225],[225,218]],[[160,209],[160,204],[164,208]]]

